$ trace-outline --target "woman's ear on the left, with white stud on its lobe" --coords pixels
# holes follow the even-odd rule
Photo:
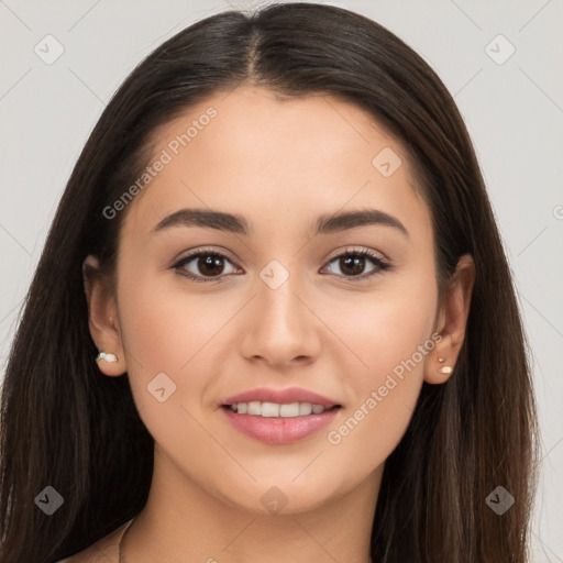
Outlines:
[[[109,376],[126,371],[123,344],[113,292],[99,268],[96,256],[89,255],[82,263],[84,288],[88,302],[88,327],[98,351],[114,354],[117,362],[99,360],[98,367]],[[93,358],[92,358],[93,360]]]

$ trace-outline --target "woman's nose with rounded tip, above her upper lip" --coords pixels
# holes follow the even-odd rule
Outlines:
[[[249,303],[242,329],[241,353],[246,360],[287,368],[317,357],[322,322],[294,283],[296,277],[289,276],[277,288],[257,282],[257,295]]]

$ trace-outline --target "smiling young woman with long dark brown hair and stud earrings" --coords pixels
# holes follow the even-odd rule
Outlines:
[[[440,79],[343,9],[221,13],[135,68],[62,198],[0,560],[522,563],[536,423]]]

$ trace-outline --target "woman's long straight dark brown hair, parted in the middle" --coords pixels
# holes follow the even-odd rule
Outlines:
[[[527,343],[472,142],[432,69],[393,33],[344,9],[271,4],[228,11],[173,36],[126,78],[84,147],[58,206],[13,341],[1,397],[0,560],[74,554],[139,514],[154,442],[128,377],[96,362],[82,261],[117,261],[123,214],[103,209],[150,162],[156,129],[219,90],[252,82],[289,97],[355,103],[402,142],[433,221],[437,276],[457,258],[476,279],[465,341],[444,385],[424,384],[385,464],[375,562],[527,561],[537,418]],[[52,516],[34,501],[52,486]],[[501,516],[486,504],[503,486]]]

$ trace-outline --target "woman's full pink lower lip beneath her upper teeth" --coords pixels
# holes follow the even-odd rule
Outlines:
[[[238,415],[229,408],[222,408],[229,421],[236,430],[266,444],[291,444],[330,424],[340,409],[331,409],[320,415],[306,417],[254,417]]]

